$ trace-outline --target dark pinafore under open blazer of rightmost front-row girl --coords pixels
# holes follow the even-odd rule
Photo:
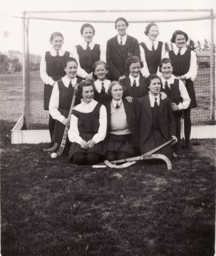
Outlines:
[[[141,154],[147,153],[150,150],[164,144],[167,140],[164,138],[160,131],[159,125],[159,106],[151,107],[152,126],[151,132],[144,144],[140,148]],[[154,154],[162,154],[171,159],[173,156],[173,150],[170,145],[158,150]]]

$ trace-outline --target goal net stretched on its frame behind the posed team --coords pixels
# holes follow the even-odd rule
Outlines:
[[[212,10],[95,10],[48,11],[23,13],[23,83],[24,118],[28,129],[47,129],[49,112],[43,109],[44,83],[40,78],[41,55],[49,51],[50,35],[59,31],[64,36],[63,48],[71,52],[83,40],[80,28],[91,23],[95,28],[94,42],[106,49],[108,39],[114,37],[115,20],[129,21],[127,33],[139,42],[148,23],[156,22],[158,39],[172,49],[172,33],[187,33],[189,46],[197,54],[198,74],[194,81],[198,107],[192,109],[192,125],[211,124],[215,117],[215,49],[214,14]]]

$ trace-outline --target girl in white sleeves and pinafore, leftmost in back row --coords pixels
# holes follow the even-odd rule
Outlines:
[[[64,43],[63,35],[60,32],[51,34],[50,43],[52,45],[50,51],[47,51],[41,58],[40,77],[45,83],[44,85],[44,109],[49,110],[50,97],[55,81],[65,76],[62,64],[70,53],[62,49]],[[50,116],[49,131],[52,139],[55,126],[55,120]]]

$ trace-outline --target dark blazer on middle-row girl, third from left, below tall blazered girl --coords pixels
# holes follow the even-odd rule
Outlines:
[[[131,87],[131,80],[129,77],[120,80],[120,84],[126,88],[126,91],[123,94],[123,97],[131,96],[132,97],[132,87]],[[143,97],[149,94],[146,86],[146,78],[139,76],[139,92],[140,97]]]

